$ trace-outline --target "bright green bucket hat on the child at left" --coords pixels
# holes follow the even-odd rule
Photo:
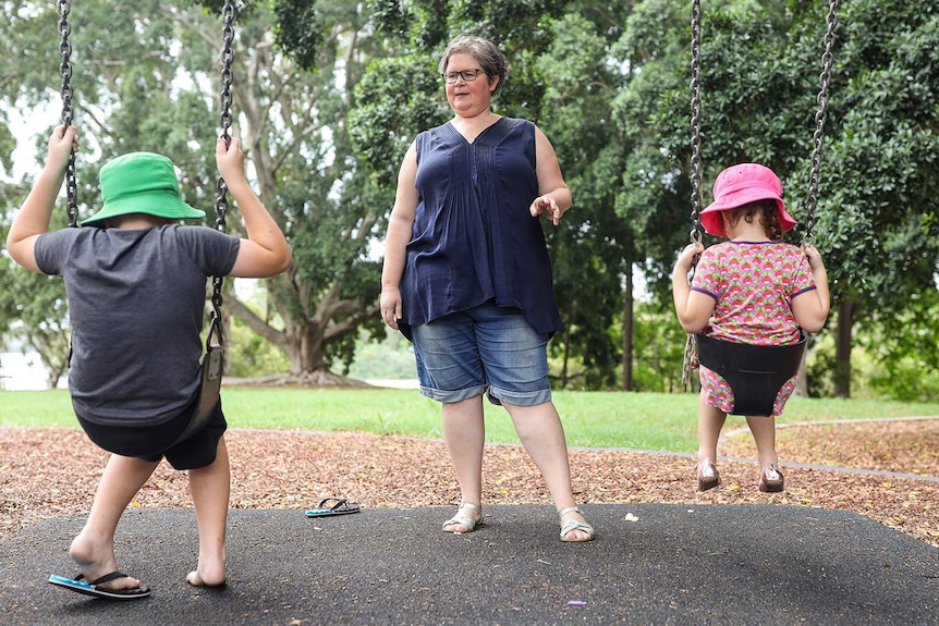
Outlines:
[[[129,213],[147,213],[171,220],[198,219],[205,211],[194,209],[180,197],[180,182],[173,162],[153,152],[131,152],[105,163],[100,173],[101,210],[84,220],[83,226],[102,226],[105,220]]]

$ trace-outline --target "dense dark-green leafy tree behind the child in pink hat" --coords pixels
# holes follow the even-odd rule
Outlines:
[[[720,169],[758,161],[780,174],[792,212],[804,221],[828,5],[702,4],[705,200]],[[882,323],[920,291],[936,289],[939,17],[931,4],[908,1],[841,9],[814,233],[832,284],[834,392],[847,395],[854,324]],[[648,52],[618,108],[633,130],[623,208],[666,278],[674,258],[663,254],[668,242],[676,250],[692,224],[690,54],[674,45],[690,38],[687,3],[646,0],[634,14],[658,19],[634,23],[633,49],[661,45]],[[662,232],[676,235],[656,235]],[[667,297],[666,289],[659,293]],[[901,341],[885,330],[878,336]]]

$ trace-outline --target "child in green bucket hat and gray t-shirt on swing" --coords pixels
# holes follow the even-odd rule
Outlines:
[[[53,576],[50,582],[111,599],[149,594],[118,568],[114,531],[166,457],[188,471],[198,521],[198,565],[186,580],[223,585],[231,477],[221,402],[208,426],[178,442],[198,404],[206,279],[280,274],[291,265],[290,247],[247,183],[236,138],[230,145],[218,140],[216,162],[242,213],[246,238],[180,224],[205,212],[182,200],[172,162],[150,152],[105,164],[101,210],[81,229],[49,232],[70,155],[77,148],[74,126],[56,128],[46,165],[7,237],[17,263],[65,281],[72,405],[88,438],[112,453],[85,527],[69,551],[80,574]]]

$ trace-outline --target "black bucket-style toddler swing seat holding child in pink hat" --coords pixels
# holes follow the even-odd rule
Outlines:
[[[806,336],[786,345],[733,343],[696,333],[698,363],[733,391],[732,415],[770,416],[780,388],[798,372]]]

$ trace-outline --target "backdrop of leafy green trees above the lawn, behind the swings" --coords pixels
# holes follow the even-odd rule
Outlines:
[[[720,169],[758,161],[780,174],[802,221],[828,3],[702,4],[704,199]],[[550,344],[552,384],[683,391],[685,335],[669,274],[693,225],[688,2],[239,7],[235,122],[295,262],[277,279],[225,283],[230,377],[310,386],[414,377],[406,341],[387,334],[377,311],[382,238],[404,149],[449,119],[437,59],[454,34],[472,30],[512,62],[496,112],[546,132],[574,197],[561,224],[545,229],[565,322]],[[60,123],[63,61],[82,134],[80,216],[100,202],[100,165],[131,150],[169,156],[186,201],[211,214],[221,2],[75,2],[64,60],[56,9],[0,7],[2,234]],[[832,315],[810,337],[801,393],[931,402],[939,9],[854,0],[839,11],[836,34],[813,231]],[[64,207],[53,222],[65,225]],[[229,232],[237,222],[232,216]],[[790,241],[803,234],[796,228]],[[61,386],[69,328],[60,280],[17,269],[4,254],[0,331],[5,349],[37,355],[48,386]]]

